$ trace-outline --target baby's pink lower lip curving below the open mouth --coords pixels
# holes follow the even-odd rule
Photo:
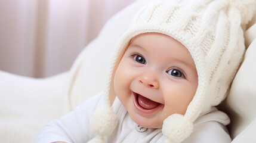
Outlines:
[[[140,113],[143,114],[152,114],[155,111],[157,111],[159,108],[161,108],[163,106],[163,104],[156,105],[156,107],[153,108],[143,108],[141,107],[141,105],[138,103],[138,96],[141,96],[135,92],[133,92],[133,101],[134,101],[134,107],[135,109],[137,109],[138,111],[140,111]]]

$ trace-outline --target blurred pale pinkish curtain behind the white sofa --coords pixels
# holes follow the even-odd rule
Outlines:
[[[0,0],[0,70],[67,71],[104,23],[135,0]]]

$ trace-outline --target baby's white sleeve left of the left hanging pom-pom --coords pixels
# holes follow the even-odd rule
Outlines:
[[[90,118],[96,108],[103,105],[102,95],[98,94],[72,112],[59,119],[55,119],[42,128],[36,143],[48,142],[87,142],[94,138],[95,134],[90,129]]]

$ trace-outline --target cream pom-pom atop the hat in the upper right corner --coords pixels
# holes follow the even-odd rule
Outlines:
[[[232,7],[240,11],[242,24],[247,24],[255,14],[255,0],[229,0],[229,2]]]

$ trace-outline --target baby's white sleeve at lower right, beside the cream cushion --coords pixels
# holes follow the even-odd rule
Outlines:
[[[231,142],[226,125],[230,119],[226,113],[212,107],[207,113],[196,119],[194,129],[183,143],[227,143]]]

